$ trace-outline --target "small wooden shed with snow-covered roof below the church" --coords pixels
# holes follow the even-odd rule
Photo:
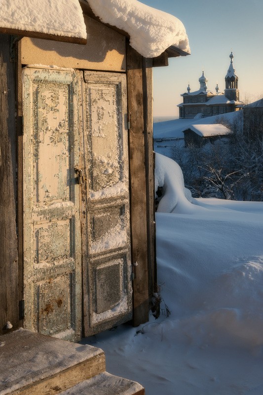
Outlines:
[[[231,131],[221,124],[190,125],[183,131],[185,135],[185,147],[194,145],[202,147],[206,143],[213,143],[215,140],[227,136]]]

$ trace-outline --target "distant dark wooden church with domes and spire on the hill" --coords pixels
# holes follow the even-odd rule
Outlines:
[[[219,92],[218,85],[215,92],[207,89],[208,79],[204,72],[199,78],[200,88],[190,92],[188,85],[187,92],[182,93],[183,103],[178,104],[179,118],[194,118],[197,114],[202,117],[222,115],[241,109],[243,103],[239,101],[238,77],[233,67],[234,55],[229,55],[231,61],[225,76],[225,92]]]

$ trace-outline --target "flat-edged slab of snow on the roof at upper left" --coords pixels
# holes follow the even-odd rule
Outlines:
[[[1,0],[0,28],[86,39],[78,0]]]

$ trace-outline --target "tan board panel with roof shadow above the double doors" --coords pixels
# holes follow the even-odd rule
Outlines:
[[[84,15],[87,44],[75,45],[24,37],[22,64],[55,64],[86,70],[125,71],[125,37]]]

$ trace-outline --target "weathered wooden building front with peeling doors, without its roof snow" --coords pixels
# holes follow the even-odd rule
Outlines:
[[[0,27],[2,333],[139,325],[156,287],[152,67],[187,53],[145,58],[79,2],[87,40]]]

